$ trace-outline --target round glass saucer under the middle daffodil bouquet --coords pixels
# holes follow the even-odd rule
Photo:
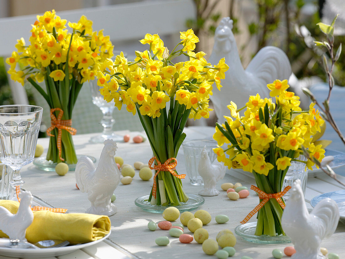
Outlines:
[[[199,206],[203,205],[205,202],[205,199],[199,195],[195,195],[191,193],[186,193],[186,195],[188,196],[187,202],[181,202],[182,203],[181,205],[174,206],[180,212],[195,210]],[[152,213],[162,213],[166,208],[169,207],[169,206],[151,205],[150,202],[148,201],[149,197],[150,197],[149,195],[139,197],[134,201],[134,203],[140,209],[148,211],[148,212],[152,212]]]

